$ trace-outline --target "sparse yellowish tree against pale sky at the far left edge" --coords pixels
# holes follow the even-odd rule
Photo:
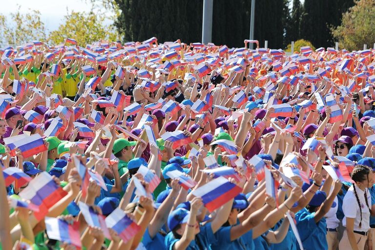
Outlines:
[[[0,15],[0,42],[19,45],[33,40],[46,41],[46,29],[39,11],[29,9],[28,13],[21,14],[19,6],[9,19]]]

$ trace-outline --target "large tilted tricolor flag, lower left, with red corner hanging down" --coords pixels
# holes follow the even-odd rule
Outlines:
[[[30,181],[29,185],[21,192],[21,198],[39,207],[39,212],[34,212],[40,221],[48,212],[48,209],[59,202],[67,192],[56,184],[51,175],[41,172],[36,178]]]

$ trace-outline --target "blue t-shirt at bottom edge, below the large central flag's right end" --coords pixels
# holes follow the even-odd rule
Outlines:
[[[252,230],[249,230],[238,239],[230,241],[230,229],[235,226],[221,227],[215,232],[216,241],[212,243],[212,250],[251,250],[255,249],[252,240]]]

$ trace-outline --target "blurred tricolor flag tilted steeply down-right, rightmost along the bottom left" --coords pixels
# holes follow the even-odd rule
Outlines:
[[[141,230],[141,227],[128,217],[121,208],[116,208],[108,215],[105,218],[105,224],[108,228],[115,230],[125,244]]]

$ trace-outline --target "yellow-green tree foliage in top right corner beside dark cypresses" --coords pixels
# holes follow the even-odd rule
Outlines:
[[[375,42],[375,2],[359,0],[342,17],[342,23],[332,29],[341,48],[359,50],[363,44]]]

